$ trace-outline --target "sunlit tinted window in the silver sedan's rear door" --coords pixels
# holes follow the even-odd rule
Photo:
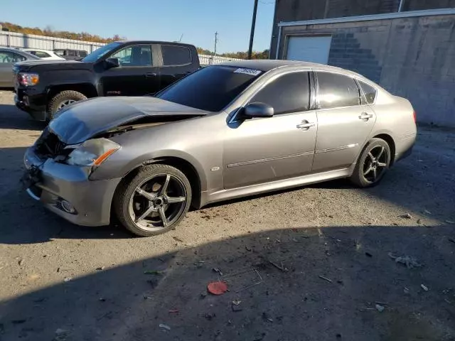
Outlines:
[[[318,72],[317,75],[319,109],[360,104],[360,90],[353,78],[331,72]]]

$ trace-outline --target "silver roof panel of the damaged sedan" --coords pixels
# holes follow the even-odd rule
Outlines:
[[[332,71],[332,72],[343,73],[345,75],[360,76],[355,72],[342,69],[341,67],[335,67],[335,66],[318,64],[318,63],[310,63],[310,62],[301,62],[299,60],[272,60],[272,59],[230,60],[228,62],[220,63],[220,64],[216,64],[216,65],[245,67],[247,69],[261,70],[264,72],[276,69],[278,67],[296,67],[296,66],[298,67],[298,66],[300,66],[302,68],[307,68],[307,69],[311,68],[313,70],[319,70],[319,71]]]

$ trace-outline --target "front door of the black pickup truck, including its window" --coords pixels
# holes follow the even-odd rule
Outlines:
[[[117,58],[119,67],[102,72],[100,82],[105,96],[141,96],[159,91],[159,67],[152,45],[128,45],[109,58]]]

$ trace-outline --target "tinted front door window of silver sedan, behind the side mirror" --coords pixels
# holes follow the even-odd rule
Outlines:
[[[309,109],[309,72],[292,72],[273,80],[255,94],[250,103],[262,102],[274,109],[274,114],[304,112]]]

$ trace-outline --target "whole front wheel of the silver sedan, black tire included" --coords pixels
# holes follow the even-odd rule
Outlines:
[[[177,168],[153,164],[125,178],[114,195],[119,222],[139,237],[175,229],[191,205],[191,185]]]

